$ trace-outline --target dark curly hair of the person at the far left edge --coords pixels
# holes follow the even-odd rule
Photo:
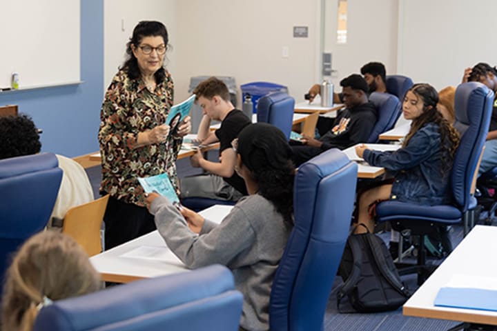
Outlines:
[[[0,159],[37,154],[40,150],[39,134],[30,117],[0,117]]]

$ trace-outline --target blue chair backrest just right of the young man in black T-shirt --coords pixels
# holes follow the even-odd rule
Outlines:
[[[257,122],[270,123],[290,139],[295,99],[284,92],[264,95],[257,103]]]

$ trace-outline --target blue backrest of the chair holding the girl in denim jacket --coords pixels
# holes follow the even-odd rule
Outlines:
[[[456,89],[454,127],[460,143],[452,168],[452,192],[462,212],[468,209],[471,184],[478,159],[487,139],[494,92],[482,83],[462,83]]]

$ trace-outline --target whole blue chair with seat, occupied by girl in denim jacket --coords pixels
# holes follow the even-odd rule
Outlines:
[[[461,140],[451,170],[451,187],[454,204],[418,205],[394,200],[378,203],[378,221],[391,221],[398,231],[410,229],[420,237],[435,232],[436,226],[451,225],[463,221],[465,234],[473,223],[476,199],[471,194],[478,159],[487,137],[494,92],[481,83],[463,83],[456,90],[454,126]],[[422,242],[420,240],[420,242]],[[418,283],[422,283],[433,268],[425,266],[425,245],[418,252]]]

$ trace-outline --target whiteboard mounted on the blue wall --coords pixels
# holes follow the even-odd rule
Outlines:
[[[0,1],[0,88],[80,80],[80,0]]]

